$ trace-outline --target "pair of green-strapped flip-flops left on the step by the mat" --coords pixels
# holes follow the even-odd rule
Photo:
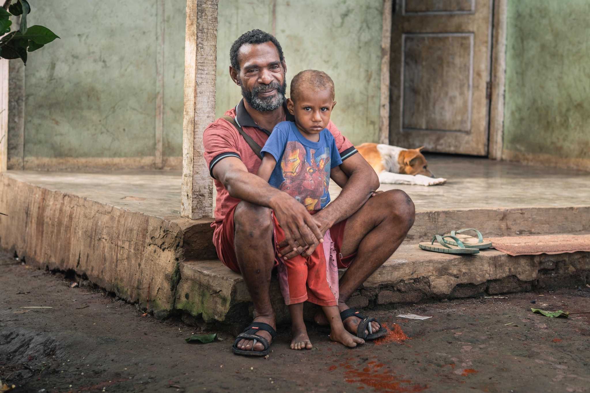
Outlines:
[[[475,232],[476,236],[463,235],[464,232]],[[438,244],[435,244],[434,241]],[[480,250],[491,247],[491,242],[484,242],[481,232],[474,228],[452,230],[450,235],[434,235],[432,241],[418,244],[422,250],[447,254],[478,254]]]

